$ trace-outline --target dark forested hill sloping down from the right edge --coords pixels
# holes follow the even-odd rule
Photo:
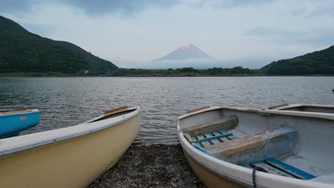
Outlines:
[[[274,61],[263,68],[268,75],[334,75],[334,46],[290,59]]]

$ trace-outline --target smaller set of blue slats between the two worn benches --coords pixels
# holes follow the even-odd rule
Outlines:
[[[228,142],[236,138],[237,137],[233,136],[232,133],[229,133],[226,130],[219,130],[216,132],[209,132],[204,135],[191,137],[191,140],[193,140],[195,143],[198,143],[201,147],[208,147],[219,144],[221,142]]]

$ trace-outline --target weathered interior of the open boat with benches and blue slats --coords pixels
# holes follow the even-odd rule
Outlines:
[[[334,120],[270,110],[218,108],[178,124],[198,150],[270,174],[334,184]]]

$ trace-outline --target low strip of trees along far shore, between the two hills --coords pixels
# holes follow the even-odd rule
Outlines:
[[[207,76],[207,75],[260,75],[260,71],[249,68],[209,68],[194,69],[189,68],[168,68],[163,70],[135,69],[135,68],[118,68],[113,73],[114,76]]]

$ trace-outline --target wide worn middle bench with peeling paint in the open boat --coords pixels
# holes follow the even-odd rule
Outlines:
[[[207,143],[203,145],[205,145],[206,151],[218,159],[233,164],[248,164],[270,157],[281,158],[290,155],[297,141],[298,131],[295,127],[286,126],[239,137],[228,142],[216,143],[215,145],[208,145]]]

